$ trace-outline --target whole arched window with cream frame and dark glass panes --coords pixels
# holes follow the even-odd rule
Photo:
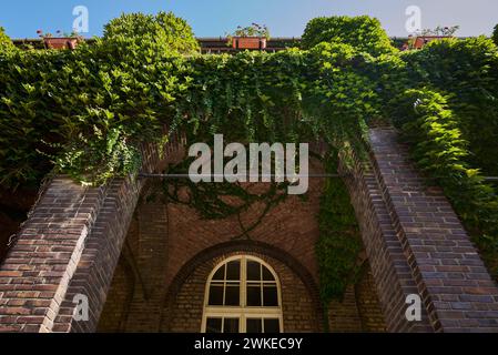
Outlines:
[[[203,333],[282,333],[281,286],[262,260],[234,256],[210,274]]]

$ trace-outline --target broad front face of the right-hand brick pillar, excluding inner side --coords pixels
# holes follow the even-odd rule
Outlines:
[[[394,130],[372,130],[370,146],[373,200],[387,207],[433,328],[498,332],[498,288],[443,191],[427,186]]]

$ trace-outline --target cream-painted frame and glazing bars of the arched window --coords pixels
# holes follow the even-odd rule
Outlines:
[[[209,305],[210,301],[210,287],[211,283],[213,281],[213,276],[216,273],[216,271],[222,267],[223,265],[233,262],[233,261],[241,261],[241,276],[240,276],[240,306],[211,306]],[[247,291],[247,261],[254,261],[256,263],[262,264],[265,266],[275,278],[275,282],[267,282],[268,284],[276,284],[276,291],[277,291],[277,304],[276,307],[263,307],[263,306],[247,306],[246,305],[246,291]],[[265,283],[263,281],[263,283]],[[272,266],[270,266],[266,262],[263,260],[251,256],[251,255],[236,255],[231,256],[228,258],[223,260],[221,263],[218,263],[213,270],[211,271],[211,274],[207,277],[207,283],[205,286],[204,292],[204,308],[203,308],[203,315],[202,315],[202,326],[201,326],[201,333],[206,332],[206,321],[207,318],[221,318],[222,320],[222,332],[224,326],[224,318],[238,318],[238,333],[246,333],[246,320],[247,318],[272,318],[272,320],[278,320],[280,323],[280,331],[281,333],[284,333],[284,321],[282,316],[282,288],[281,288],[281,282],[278,280],[278,275],[275,273]],[[264,327],[264,322],[263,322]],[[263,329],[264,332],[264,329]]]

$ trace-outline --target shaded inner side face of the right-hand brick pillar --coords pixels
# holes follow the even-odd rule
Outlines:
[[[345,169],[341,166],[341,170]],[[425,308],[421,310],[421,322],[406,320],[405,300],[410,294],[417,294],[418,290],[370,163],[356,160],[348,176],[346,184],[362,230],[387,331],[433,332]]]

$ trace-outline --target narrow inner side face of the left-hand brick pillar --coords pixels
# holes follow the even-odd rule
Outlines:
[[[106,189],[105,199],[91,232],[84,241],[78,268],[60,306],[53,332],[94,332],[105,303],[133,211],[143,183],[116,179]],[[89,300],[89,321],[73,318],[77,294]]]

